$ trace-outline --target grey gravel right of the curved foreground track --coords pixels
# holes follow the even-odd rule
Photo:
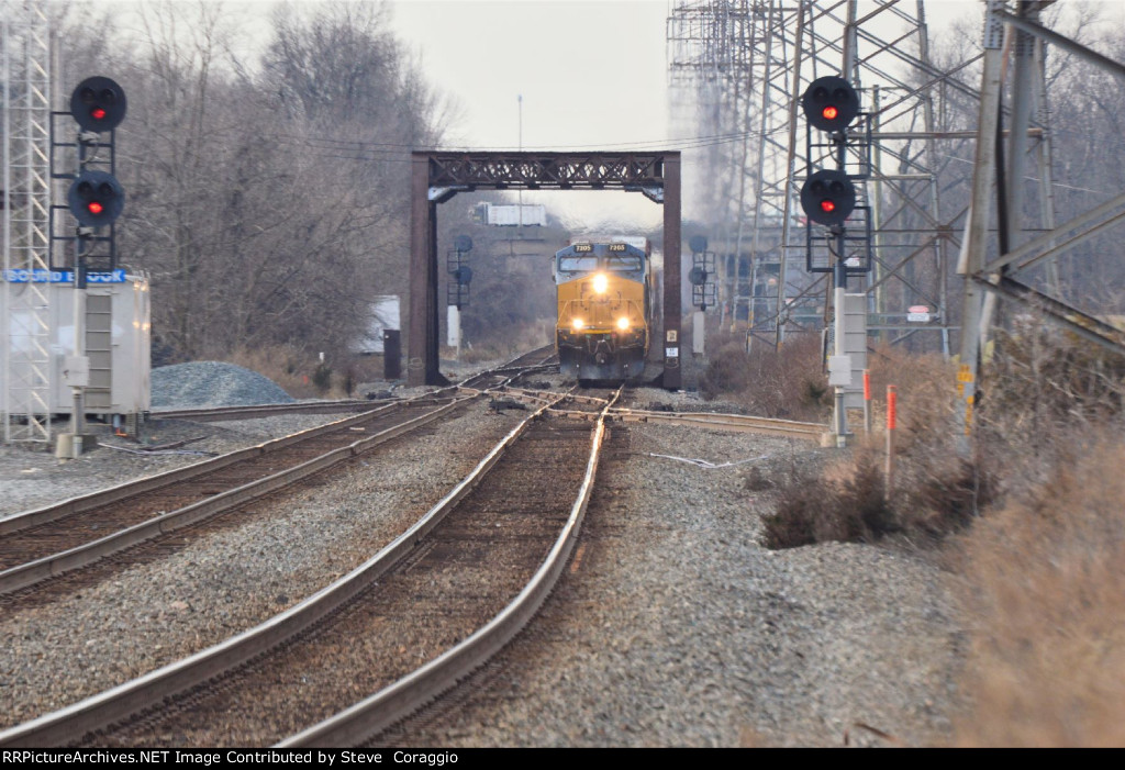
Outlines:
[[[620,428],[618,428],[620,431]],[[768,492],[819,452],[789,440],[630,425],[577,555],[537,624],[418,746],[831,746],[950,740],[961,664],[933,565],[881,547],[757,543]],[[615,455],[615,456],[614,456]],[[706,469],[657,458],[675,455]],[[606,478],[606,472],[614,478]],[[448,713],[446,713],[448,712]],[[890,734],[879,739],[864,726]]]

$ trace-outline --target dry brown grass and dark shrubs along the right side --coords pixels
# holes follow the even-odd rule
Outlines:
[[[886,348],[870,361],[875,435],[782,484],[765,540],[944,537],[970,647],[955,742],[1125,745],[1125,362],[1053,332],[1008,335],[963,460],[952,365]],[[888,383],[899,462],[881,508]]]

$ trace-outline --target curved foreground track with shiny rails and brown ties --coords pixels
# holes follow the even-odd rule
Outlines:
[[[543,413],[328,588],[210,650],[4,731],[0,745],[261,745],[370,692],[342,722],[297,741],[358,741],[399,718],[514,635],[566,562],[603,426],[533,419]]]

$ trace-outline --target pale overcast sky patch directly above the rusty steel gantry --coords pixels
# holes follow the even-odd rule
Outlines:
[[[624,146],[667,137],[665,0],[397,0],[395,26],[467,118],[453,144]]]

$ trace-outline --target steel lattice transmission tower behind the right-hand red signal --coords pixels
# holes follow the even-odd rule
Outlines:
[[[713,247],[723,254],[719,244],[727,244],[720,301],[731,326],[745,325],[748,344],[778,345],[786,333],[819,332],[832,312],[824,274],[804,271],[796,201],[810,158],[796,103],[813,80],[837,74],[861,90],[873,127],[860,191],[874,233],[863,281],[868,328],[948,353],[948,261],[965,210],[944,211],[938,175],[975,132],[947,125],[954,111],[944,107],[978,97],[930,61],[924,3],[685,1],[673,8],[668,46],[674,92],[701,94],[695,117],[710,123],[701,120],[699,133],[727,143],[718,145],[724,154],[708,147],[691,160],[722,187],[700,199],[718,234]],[[714,205],[723,193],[727,205]]]

